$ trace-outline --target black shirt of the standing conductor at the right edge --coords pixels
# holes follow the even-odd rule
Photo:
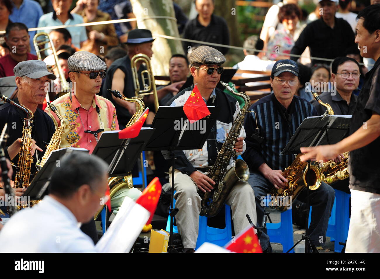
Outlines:
[[[361,128],[372,113],[380,114],[380,59],[366,74],[352,115],[350,134]],[[368,145],[350,152],[350,188],[380,194],[380,137]]]

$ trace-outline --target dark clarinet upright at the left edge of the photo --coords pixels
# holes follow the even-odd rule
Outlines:
[[[8,166],[6,165],[5,152],[4,152],[5,143],[9,137],[8,134],[6,133],[7,126],[8,126],[8,124],[5,123],[3,131],[0,135],[0,168],[2,169],[2,178],[3,178],[3,183],[4,183],[5,194],[13,197],[12,205],[8,206],[9,216],[12,216],[14,213],[17,212],[17,210],[16,210],[16,205],[15,205],[16,197],[14,195],[13,188],[11,187],[11,180],[8,177]],[[7,201],[7,200],[8,199],[5,199],[5,201]]]

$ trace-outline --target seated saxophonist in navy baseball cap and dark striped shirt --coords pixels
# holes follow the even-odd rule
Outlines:
[[[287,182],[287,179],[282,176],[282,172],[294,161],[293,155],[279,153],[302,120],[317,115],[315,108],[308,101],[294,96],[298,88],[298,76],[298,67],[294,61],[277,61],[271,74],[273,93],[261,98],[250,107],[249,110],[256,112],[257,119],[252,112],[247,113],[245,117],[247,150],[243,158],[250,169],[248,182],[255,192],[258,224],[261,224],[264,215],[263,197],[266,197],[273,187],[285,188],[284,182]],[[256,120],[260,129],[259,134],[255,134]],[[263,137],[263,140],[261,141],[259,137]],[[334,197],[334,189],[325,183],[322,183],[317,190],[310,191],[310,204],[313,210],[309,232],[314,252],[317,251],[315,246],[322,246],[326,241],[326,230]],[[302,191],[298,199],[306,201],[306,191]],[[260,236],[260,244],[264,252],[272,251],[266,230]]]

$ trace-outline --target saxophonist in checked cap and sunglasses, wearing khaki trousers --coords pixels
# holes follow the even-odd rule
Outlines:
[[[179,233],[182,237],[185,252],[194,252],[198,238],[199,213],[201,212],[201,197],[198,192],[211,191],[214,181],[207,177],[207,168],[212,166],[217,158],[218,150],[223,145],[231,125],[240,111],[239,103],[231,95],[225,94],[216,88],[223,72],[222,64],[226,58],[218,50],[200,46],[190,54],[190,73],[194,78],[194,84],[199,89],[203,101],[207,106],[222,107],[214,127],[211,129],[201,149],[174,151],[174,190],[176,194],[176,221]],[[194,85],[185,88],[174,96],[167,106],[183,106],[189,98]],[[234,147],[237,154],[245,150],[245,132],[241,129],[240,135]],[[165,159],[171,160],[168,152],[163,151]],[[232,162],[230,162],[231,166]],[[170,169],[169,172],[172,170]],[[171,183],[171,175],[169,176]],[[191,205],[188,201],[191,200]],[[226,204],[231,206],[235,233],[241,232],[249,225],[245,214],[256,223],[255,195],[248,183],[237,182],[226,199]]]

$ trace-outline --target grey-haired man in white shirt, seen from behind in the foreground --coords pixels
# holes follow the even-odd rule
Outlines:
[[[105,202],[107,165],[96,156],[72,153],[60,162],[50,194],[12,216],[0,231],[1,252],[96,252],[80,229]],[[22,241],[20,241],[20,233]]]

